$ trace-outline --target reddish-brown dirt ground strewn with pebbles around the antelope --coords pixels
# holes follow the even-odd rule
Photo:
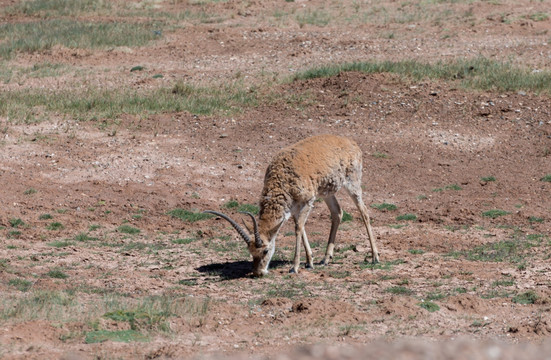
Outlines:
[[[136,2],[144,4],[215,19],[178,20],[142,48],[18,54],[14,68],[73,70],[21,75],[1,91],[240,79],[263,91],[269,83],[277,96],[229,115],[0,117],[0,357],[548,358],[549,96],[359,72],[285,81],[346,61],[484,56],[548,70],[551,23],[533,16],[547,2]],[[145,70],[131,72],[136,65]],[[230,204],[258,202],[274,154],[325,133],[363,150],[379,265],[365,262],[365,228],[344,193],[352,220],[334,261],[296,275],[292,221],[258,279],[226,222],[171,215],[214,209],[240,220]],[[316,203],[307,231],[317,261],[329,228]]]

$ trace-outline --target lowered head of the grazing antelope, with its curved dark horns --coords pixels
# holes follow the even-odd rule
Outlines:
[[[252,231],[245,225],[247,230],[254,234],[254,240],[251,240],[250,236],[243,228],[229,216],[213,210],[205,210],[203,212],[214,214],[227,220],[243,240],[245,240],[247,248],[253,257],[253,276],[263,276],[268,273],[268,266],[270,265],[270,260],[275,251],[275,241],[272,241],[272,236],[270,236],[270,234],[264,234],[263,231],[259,231],[258,224],[253,214],[250,212],[242,212],[243,214],[249,215],[253,221]]]

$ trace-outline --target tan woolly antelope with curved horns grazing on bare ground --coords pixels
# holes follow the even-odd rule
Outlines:
[[[252,231],[245,222],[243,224],[254,234],[254,241],[229,216],[213,210],[204,212],[227,220],[245,240],[253,257],[254,276],[268,273],[279,229],[293,216],[296,248],[293,267],[289,272],[298,273],[301,243],[306,252],[306,268],[314,267],[304,225],[317,198],[322,198],[331,212],[329,241],[320,264],[327,265],[333,258],[335,236],[343,215],[335,193],[344,187],[360,211],[367,229],[372,261],[377,263],[379,253],[367,207],[362,201],[361,178],[362,152],[354,141],[335,135],[313,136],[281,150],[266,169],[258,221],[253,214],[243,212],[252,219]]]

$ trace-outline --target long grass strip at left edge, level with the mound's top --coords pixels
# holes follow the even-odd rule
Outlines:
[[[255,88],[237,83],[210,87],[175,85],[171,88],[99,89],[84,91],[23,89],[0,93],[0,116],[17,123],[41,121],[61,113],[76,120],[116,119],[121,114],[144,115],[188,111],[192,114],[234,113],[255,106]]]

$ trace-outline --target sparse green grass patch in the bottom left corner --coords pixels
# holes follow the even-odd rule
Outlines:
[[[13,282],[12,286],[27,287],[26,283]],[[90,296],[96,294],[98,296]],[[106,314],[121,314],[116,320],[130,324],[134,331],[149,335],[150,332],[171,331],[170,319],[177,318],[186,324],[199,325],[210,307],[209,298],[176,296],[127,297],[116,291],[90,288],[85,285],[63,291],[33,290],[24,294],[4,294],[0,306],[1,320],[28,321],[51,320],[56,324],[78,322],[90,324],[93,330],[102,330],[99,318]],[[124,318],[126,316],[126,319]],[[109,320],[109,322],[115,320]],[[119,329],[130,326],[120,324]]]

